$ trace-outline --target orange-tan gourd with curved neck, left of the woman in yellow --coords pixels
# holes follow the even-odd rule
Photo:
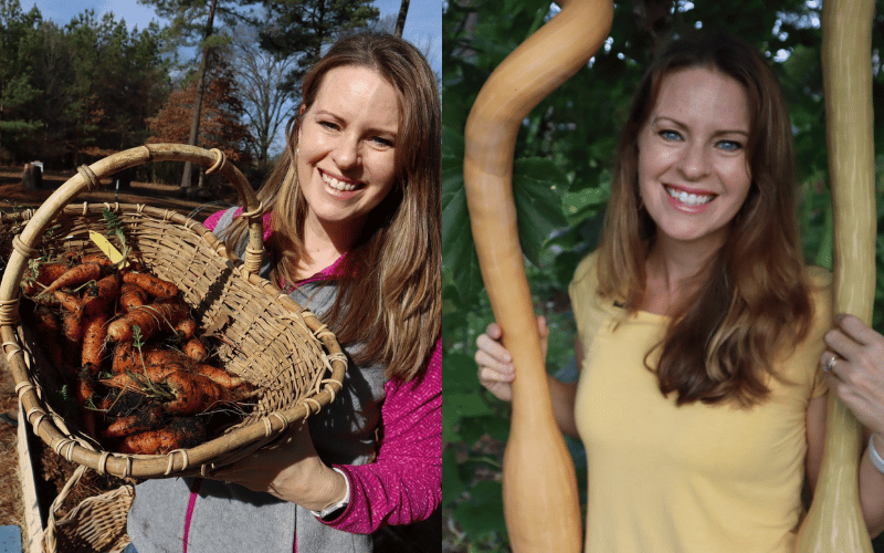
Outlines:
[[[611,0],[561,12],[492,73],[466,122],[464,182],[482,276],[513,354],[513,418],[504,453],[504,515],[516,553],[581,550],[573,462],[552,416],[513,200],[516,134],[528,113],[585,66],[613,20]]]

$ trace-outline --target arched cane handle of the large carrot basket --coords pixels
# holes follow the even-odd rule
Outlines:
[[[21,243],[15,246],[15,250],[33,249],[50,221],[78,194],[97,188],[99,179],[130,167],[154,161],[190,161],[200,164],[209,167],[207,174],[220,173],[233,185],[243,206],[241,217],[245,217],[249,225],[249,242],[245,250],[244,267],[250,273],[256,274],[261,268],[264,246],[262,226],[264,207],[257,200],[257,196],[245,179],[245,176],[227,159],[227,156],[221,150],[208,150],[185,144],[147,144],[119,152],[90,166],[80,166],[77,174],[67,179],[40,206],[40,209],[36,210],[28,226],[22,230],[19,237]],[[19,278],[14,279],[15,283],[18,281]]]

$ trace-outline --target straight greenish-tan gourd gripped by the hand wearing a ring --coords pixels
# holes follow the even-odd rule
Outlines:
[[[834,211],[834,310],[872,320],[875,293],[875,194],[872,117],[874,0],[825,0],[822,70]],[[825,452],[813,504],[799,532],[800,553],[872,553],[860,510],[862,428],[829,395]]]

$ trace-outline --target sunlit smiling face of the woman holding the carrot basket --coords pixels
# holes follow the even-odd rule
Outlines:
[[[344,65],[325,74],[297,134],[305,230],[332,223],[359,231],[396,184],[398,129],[396,91],[376,71]]]

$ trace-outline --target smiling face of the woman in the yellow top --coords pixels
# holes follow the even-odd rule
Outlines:
[[[748,138],[739,82],[701,67],[663,77],[638,140],[639,192],[657,243],[724,243],[751,184]]]

